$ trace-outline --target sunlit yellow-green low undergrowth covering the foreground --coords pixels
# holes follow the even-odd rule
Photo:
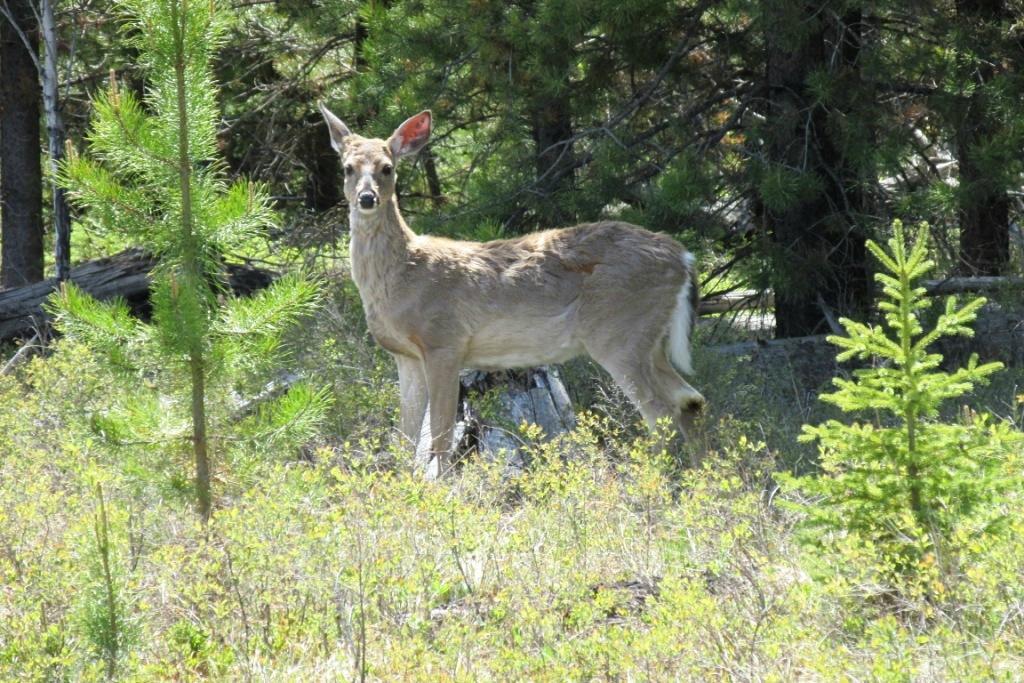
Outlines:
[[[338,405],[377,381],[367,352]],[[866,550],[811,578],[820,558],[776,505],[777,455],[746,423],[717,423],[728,445],[680,470],[656,438],[585,414],[522,474],[472,460],[438,483],[403,454],[374,457],[378,415],[302,457],[238,453],[204,528],[187,490],[142,476],[83,417],[111,398],[101,378],[68,342],[0,378],[0,680],[1013,680],[1024,666],[1019,513],[955,595],[881,603]]]

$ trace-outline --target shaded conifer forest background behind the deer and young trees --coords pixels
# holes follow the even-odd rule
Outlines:
[[[1020,270],[1020,2],[231,8],[219,144],[284,217],[259,257],[330,254],[346,227],[324,100],[366,134],[433,111],[400,181],[418,230],[484,240],[621,217],[679,236],[706,290],[771,288],[778,336],[864,316],[864,242],[894,216],[932,223],[942,274]],[[15,287],[67,273],[49,159],[65,137],[82,146],[112,77],[139,95],[145,83],[116,3],[2,9],[2,283]],[[125,246],[73,229],[71,259]]]

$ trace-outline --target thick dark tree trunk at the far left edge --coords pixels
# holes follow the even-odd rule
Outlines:
[[[7,7],[10,15],[0,17],[0,287],[18,287],[43,279],[39,26],[32,0],[7,0]]]

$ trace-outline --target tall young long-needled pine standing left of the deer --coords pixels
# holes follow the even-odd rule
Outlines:
[[[159,441],[190,441],[198,508],[207,519],[211,419],[236,435],[281,442],[308,433],[323,412],[325,394],[301,385],[257,418],[228,419],[228,389],[268,369],[283,333],[318,294],[298,276],[250,299],[231,298],[224,287],[223,255],[273,215],[262,188],[229,183],[217,158],[210,61],[224,35],[223,13],[213,2],[189,0],[127,0],[123,7],[150,88],[139,101],[112,80],[95,105],[90,156],[72,151],[63,182],[89,226],[141,243],[157,257],[153,319],[142,324],[124,302],[99,303],[74,286],[54,308],[60,329],[105,355],[134,389],[97,418],[103,434],[144,442],[156,432]]]

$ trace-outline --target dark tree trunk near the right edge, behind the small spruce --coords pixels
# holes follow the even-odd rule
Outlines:
[[[956,0],[956,14],[958,20],[977,29],[977,47],[984,54],[990,46],[980,38],[1008,13],[1004,0]],[[994,60],[980,59],[977,87],[964,103],[954,139],[959,168],[961,270],[968,275],[998,275],[1010,263],[1010,196],[996,177],[998,171],[986,167],[979,151],[1000,134],[983,90],[994,76]]]

